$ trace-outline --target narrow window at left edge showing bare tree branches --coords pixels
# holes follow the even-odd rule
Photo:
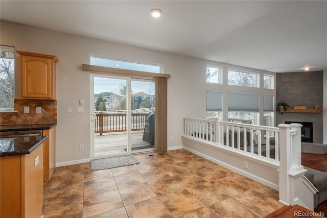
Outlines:
[[[14,80],[15,52],[0,50],[0,109],[13,111],[15,80]]]

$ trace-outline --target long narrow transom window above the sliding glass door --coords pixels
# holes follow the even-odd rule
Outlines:
[[[119,68],[119,69],[131,69],[131,70],[138,70],[138,71],[145,71],[145,72],[155,72],[156,74],[161,73],[161,66],[159,65],[134,63],[134,62],[113,60],[113,59],[100,58],[100,57],[90,57],[90,64],[97,65],[97,66]]]

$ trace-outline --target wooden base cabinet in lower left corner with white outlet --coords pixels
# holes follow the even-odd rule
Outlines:
[[[1,217],[42,217],[43,145],[31,154],[1,157],[0,161]]]

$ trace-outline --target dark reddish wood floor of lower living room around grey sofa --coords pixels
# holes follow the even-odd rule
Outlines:
[[[327,173],[327,154],[302,153],[302,165]],[[327,201],[324,201],[315,209],[315,212],[320,211],[327,216]]]

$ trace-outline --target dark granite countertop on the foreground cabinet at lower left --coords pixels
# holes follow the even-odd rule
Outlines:
[[[28,136],[0,139],[0,157],[31,154],[48,136]]]

